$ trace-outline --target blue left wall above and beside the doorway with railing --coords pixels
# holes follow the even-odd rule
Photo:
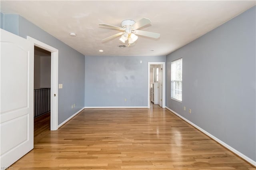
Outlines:
[[[54,38],[38,26],[17,14],[4,14],[4,29],[18,26],[18,36],[30,36],[58,49],[58,82],[63,89],[58,90],[58,124],[84,107],[84,55]],[[6,18],[7,17],[7,18]],[[18,18],[18,20],[17,20]],[[6,25],[8,20],[8,24]],[[8,27],[7,27],[8,26]],[[74,109],[71,105],[76,104]]]

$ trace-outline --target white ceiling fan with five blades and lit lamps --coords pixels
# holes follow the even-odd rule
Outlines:
[[[105,38],[102,41],[107,41],[112,38],[121,36],[121,38],[119,40],[123,43],[125,43],[128,40],[128,45],[130,45],[130,44],[136,42],[136,40],[138,39],[138,36],[136,36],[136,35],[146,36],[146,37],[150,37],[150,38],[159,38],[160,34],[158,34],[158,33],[138,30],[139,28],[142,28],[143,26],[150,24],[150,22],[151,22],[150,19],[142,18],[138,22],[135,22],[134,20],[124,20],[121,23],[122,27],[112,26],[109,24],[99,24],[100,26],[113,28],[113,29],[122,31],[117,34],[114,34],[113,36]]]

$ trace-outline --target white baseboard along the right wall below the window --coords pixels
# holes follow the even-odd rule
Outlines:
[[[204,134],[206,134],[207,136],[209,136],[210,138],[212,138],[213,140],[215,140],[216,142],[218,142],[219,144],[221,144],[222,146],[224,146],[225,148],[227,148],[228,150],[234,152],[235,154],[237,154],[238,156],[240,156],[241,158],[243,158],[244,160],[246,160],[247,162],[249,162],[250,164],[252,164],[253,166],[256,166],[256,161],[252,160],[251,158],[248,158],[247,156],[245,156],[244,154],[242,154],[241,152],[239,152],[238,150],[232,148],[231,146],[229,146],[228,144],[226,144],[225,142],[223,142],[222,140],[216,138],[215,136],[213,136],[212,134],[210,134],[209,132],[205,131],[204,129],[198,127],[197,125],[195,125],[194,123],[190,122],[188,119],[182,117],[181,115],[179,115],[178,113],[176,113],[175,111],[173,111],[172,109],[166,107],[166,109],[168,109],[169,111],[171,111],[172,113],[174,113],[175,115],[177,115],[178,117],[180,117],[181,119],[183,119],[184,121],[186,121],[187,123],[189,123],[190,125],[192,125],[193,127],[197,128],[198,130],[200,130],[201,132],[203,132]]]

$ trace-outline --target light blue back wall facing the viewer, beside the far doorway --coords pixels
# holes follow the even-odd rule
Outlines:
[[[148,62],[165,59],[166,56],[86,56],[84,105],[147,107]]]

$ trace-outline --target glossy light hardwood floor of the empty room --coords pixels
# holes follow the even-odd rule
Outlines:
[[[160,107],[85,109],[34,144],[20,170],[240,169],[250,164]]]

